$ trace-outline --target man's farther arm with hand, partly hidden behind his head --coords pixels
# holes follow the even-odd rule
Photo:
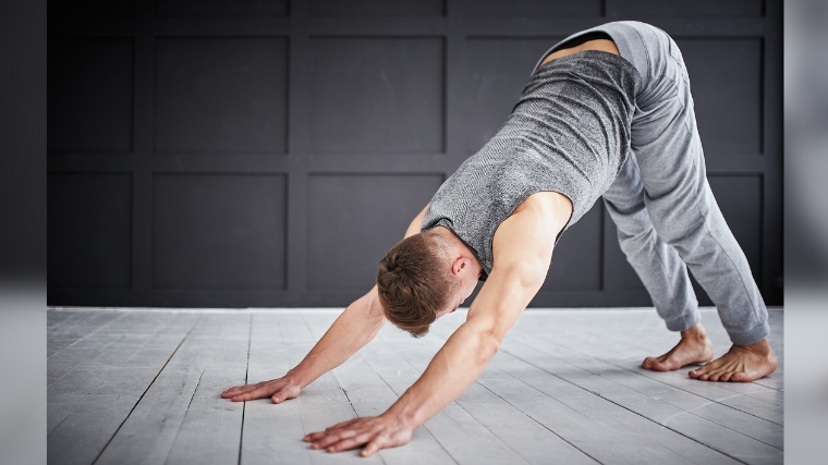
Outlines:
[[[419,232],[427,209],[428,206],[414,218],[405,237]],[[222,392],[221,396],[234,402],[270,397],[277,404],[293,399],[305,386],[348,360],[377,335],[385,322],[386,317],[375,285],[349,305],[305,358],[283,377],[256,384],[236,386]]]

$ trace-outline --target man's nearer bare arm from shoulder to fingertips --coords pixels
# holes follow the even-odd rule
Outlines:
[[[449,338],[423,376],[385,414],[355,418],[306,436],[312,448],[339,452],[367,444],[362,455],[368,456],[379,449],[404,444],[414,429],[477,378],[544,283],[555,237],[572,212],[569,199],[548,194],[522,205],[525,208],[500,224],[491,273],[472,303],[465,323]],[[553,208],[553,213],[547,208]]]

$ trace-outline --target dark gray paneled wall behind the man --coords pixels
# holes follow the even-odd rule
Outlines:
[[[770,0],[52,1],[48,303],[346,305],[539,54],[624,19],[682,48],[713,189],[780,305]],[[534,305],[649,305],[600,203]]]

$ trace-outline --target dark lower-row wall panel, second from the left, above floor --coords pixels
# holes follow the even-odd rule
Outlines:
[[[285,186],[278,174],[156,174],[153,287],[284,289]]]

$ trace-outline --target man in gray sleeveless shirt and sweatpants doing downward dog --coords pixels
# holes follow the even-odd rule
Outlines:
[[[541,57],[498,134],[470,157],[380,261],[377,285],[351,304],[284,377],[223,397],[280,403],[345,362],[386,319],[422,335],[485,280],[465,321],[386,413],[305,437],[363,456],[411,440],[498,351],[543,284],[560,234],[597,200],[668,329],[670,352],[645,369],[710,362],[686,267],[716,303],[733,342],[690,377],[752,381],[776,369],[767,310],[705,176],[686,70],[675,42],[636,22],[569,37]],[[685,266],[686,264],[686,266]]]

